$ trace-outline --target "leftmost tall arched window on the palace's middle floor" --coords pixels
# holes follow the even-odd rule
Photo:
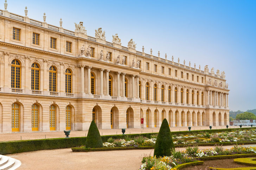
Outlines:
[[[20,63],[18,60],[12,61],[11,87],[17,89],[20,88]]]

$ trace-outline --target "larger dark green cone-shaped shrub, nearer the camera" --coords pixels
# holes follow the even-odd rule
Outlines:
[[[164,119],[156,138],[154,156],[171,156],[171,149],[174,149],[172,134],[167,120]]]

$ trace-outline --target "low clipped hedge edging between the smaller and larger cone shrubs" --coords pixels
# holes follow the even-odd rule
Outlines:
[[[129,150],[129,149],[154,149],[154,146],[141,147],[115,147],[115,148],[71,148],[75,152],[106,151],[106,150]]]

